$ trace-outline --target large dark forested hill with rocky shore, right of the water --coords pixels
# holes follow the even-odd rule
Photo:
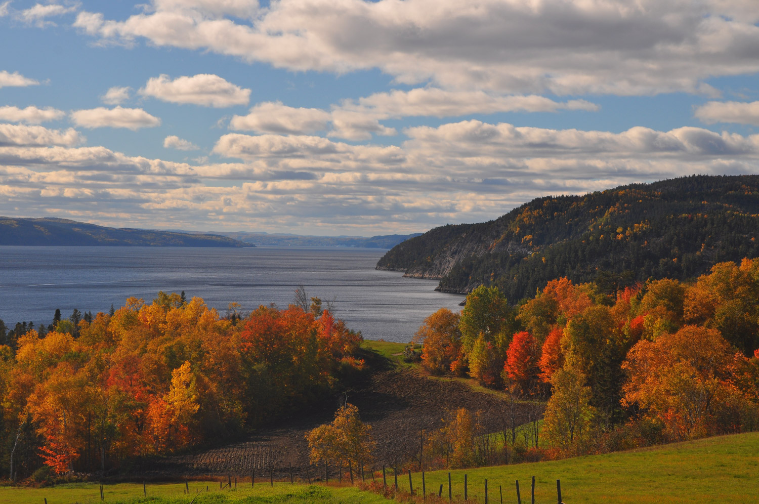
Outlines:
[[[518,301],[562,276],[609,293],[648,278],[693,278],[757,257],[757,238],[759,176],[694,175],[541,197],[490,222],[434,228],[389,250],[377,268],[440,279],[448,292],[497,285]]]

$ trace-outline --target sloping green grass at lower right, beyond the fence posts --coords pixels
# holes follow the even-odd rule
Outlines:
[[[530,502],[532,476],[536,477],[537,502],[556,502],[556,480],[561,480],[562,500],[568,504],[757,502],[759,433],[561,461],[461,469],[451,474],[454,496],[463,496],[467,474],[468,497],[478,502],[483,502],[486,478],[490,502],[499,502],[499,486],[503,502],[516,502],[515,480],[519,480],[522,502]],[[427,473],[426,482],[427,490],[435,493],[443,484],[447,498],[448,471]],[[408,475],[398,477],[398,484],[408,491]],[[414,474],[414,488],[421,488],[420,474]]]

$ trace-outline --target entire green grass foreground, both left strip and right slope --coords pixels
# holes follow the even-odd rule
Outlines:
[[[468,497],[483,502],[484,480],[490,487],[490,502],[516,502],[515,480],[519,480],[522,502],[530,502],[531,477],[536,477],[536,502],[556,502],[556,480],[562,482],[562,499],[567,504],[614,502],[632,504],[664,504],[699,502],[759,501],[759,433],[718,436],[688,443],[677,443],[631,452],[569,458],[534,464],[506,465],[491,468],[451,471],[452,487],[459,499],[464,493],[464,475],[468,475]],[[421,490],[421,475],[413,474],[414,490]],[[443,484],[443,497],[448,496],[448,471],[426,474],[427,492],[437,493]],[[205,493],[206,484],[209,493]],[[392,474],[388,484],[393,485]],[[151,504],[189,504],[197,490],[203,495],[197,504],[289,504],[317,502],[323,504],[386,502],[382,497],[354,487],[323,487],[275,483],[257,483],[251,490],[238,484],[238,490],[219,491],[218,481],[191,482],[190,494],[184,484],[149,484],[148,498],[142,498],[141,484],[107,484],[106,502],[150,502]],[[408,474],[398,476],[398,486],[408,491]],[[12,504],[82,504],[100,502],[97,484],[71,484],[39,489],[0,488],[0,502]]]

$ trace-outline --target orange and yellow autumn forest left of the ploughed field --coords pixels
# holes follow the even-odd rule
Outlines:
[[[159,292],[58,320],[43,336],[5,334],[2,474],[102,474],[220,443],[304,408],[363,366],[361,334],[319,298],[245,317],[236,307],[222,317],[201,298]]]

